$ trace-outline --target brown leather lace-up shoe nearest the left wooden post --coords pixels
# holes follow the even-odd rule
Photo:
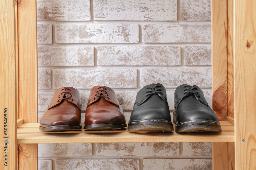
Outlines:
[[[39,129],[51,132],[81,129],[81,107],[81,99],[77,89],[73,87],[57,89],[40,119]]]

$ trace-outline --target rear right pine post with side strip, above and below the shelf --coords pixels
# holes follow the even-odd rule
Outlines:
[[[219,120],[233,113],[233,0],[211,1],[212,22],[212,109]],[[228,142],[212,143],[214,170],[232,170],[233,145]]]

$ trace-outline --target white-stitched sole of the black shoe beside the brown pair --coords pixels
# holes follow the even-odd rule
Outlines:
[[[172,122],[166,120],[142,120],[128,123],[130,131],[173,132]]]

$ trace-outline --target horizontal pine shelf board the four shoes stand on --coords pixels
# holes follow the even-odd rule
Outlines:
[[[17,143],[116,143],[116,142],[234,142],[234,126],[220,121],[222,132],[175,133],[131,132],[124,130],[42,132],[38,123],[25,123],[17,128]],[[84,123],[81,123],[82,125]]]

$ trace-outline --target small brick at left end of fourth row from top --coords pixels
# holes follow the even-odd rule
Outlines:
[[[37,70],[38,76],[38,89],[50,89],[51,88],[51,70]]]

